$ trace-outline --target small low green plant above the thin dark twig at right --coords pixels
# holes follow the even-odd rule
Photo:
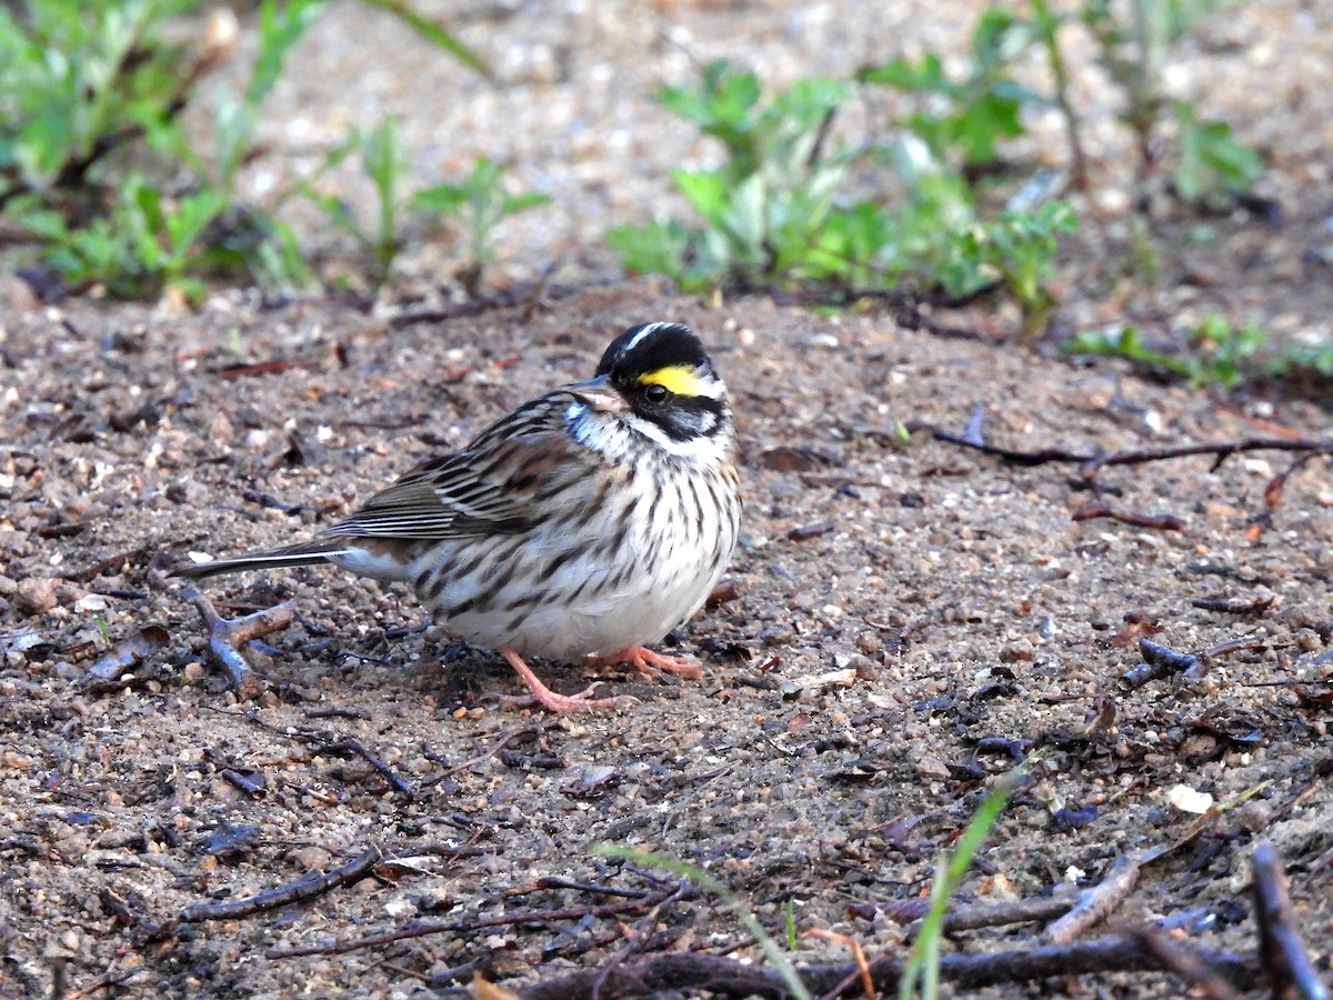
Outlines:
[[[1221,316],[1205,316],[1192,331],[1184,352],[1170,353],[1148,347],[1133,325],[1116,332],[1082,331],[1066,345],[1070,355],[1124,357],[1156,371],[1185,379],[1192,388],[1240,384],[1268,336],[1254,323],[1237,329]]]

